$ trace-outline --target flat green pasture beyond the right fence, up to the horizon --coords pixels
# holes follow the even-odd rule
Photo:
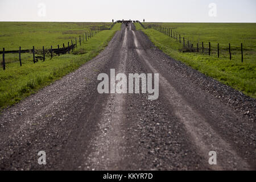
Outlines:
[[[157,24],[166,28],[174,28],[181,37],[193,42],[212,43],[222,49],[227,49],[229,43],[232,49],[240,51],[241,43],[244,48],[256,50],[256,23],[144,23],[145,26]],[[206,45],[207,46],[207,45]]]

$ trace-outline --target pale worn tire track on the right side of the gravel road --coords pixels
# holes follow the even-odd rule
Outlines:
[[[162,85],[161,88],[164,89],[166,98],[170,102],[170,105],[175,106],[176,116],[184,123],[185,128],[189,135],[191,135],[193,142],[199,147],[200,153],[204,156],[205,160],[209,158],[209,151],[217,151],[218,164],[212,166],[213,169],[250,169],[249,164],[238,156],[233,148],[208,125],[205,119],[183,100],[183,97],[177,93],[175,88],[170,85],[166,78],[157,71],[157,68],[152,67],[148,61],[150,58],[148,58],[146,52],[139,48],[141,45],[139,44],[134,31],[133,35],[138,55],[145,61],[153,73],[159,73],[159,84]]]

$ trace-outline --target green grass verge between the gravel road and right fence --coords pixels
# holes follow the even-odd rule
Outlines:
[[[244,63],[241,63],[241,55],[233,55],[233,59],[230,61],[228,57],[218,59],[214,55],[183,52],[182,45],[176,40],[152,28],[144,30],[139,23],[136,23],[135,26],[137,30],[142,30],[152,43],[167,55],[182,61],[207,76],[232,86],[234,89],[240,90],[247,96],[256,98],[256,56],[254,54],[246,54]]]

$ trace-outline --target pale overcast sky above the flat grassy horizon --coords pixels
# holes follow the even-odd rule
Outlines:
[[[255,0],[0,0],[0,21],[254,22]],[[1,28],[1,27],[0,27]]]

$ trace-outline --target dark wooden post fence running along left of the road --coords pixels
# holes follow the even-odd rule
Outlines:
[[[114,26],[115,23],[112,24],[112,27]],[[111,28],[112,28],[111,27]],[[110,28],[110,29],[111,29]],[[93,27],[90,28],[89,31],[85,32],[82,34],[82,40],[81,40],[81,35],[79,36],[79,43],[81,46],[81,42],[84,42],[84,35],[85,35],[85,40],[86,42],[92,38],[93,36],[95,36],[96,34],[98,34],[99,32],[101,32],[102,29],[101,27]],[[5,48],[3,48],[3,51],[0,51],[0,54],[2,54],[3,56],[3,60],[2,60],[2,66],[3,66],[3,70],[6,69],[6,61],[5,61],[5,55],[6,53],[19,53],[19,64],[20,67],[22,67],[22,59],[21,59],[21,53],[32,53],[33,55],[33,63],[35,64],[37,62],[37,57],[40,57],[43,59],[43,61],[46,60],[46,52],[51,53],[51,59],[53,57],[53,53],[55,53],[56,55],[60,56],[60,54],[65,54],[65,53],[70,53],[70,51],[74,48],[77,48],[77,39],[75,38],[75,44],[73,44],[73,40],[71,40],[71,45],[69,45],[69,42],[67,43],[68,46],[65,47],[65,44],[63,43],[63,48],[60,48],[59,44],[57,45],[57,48],[51,48],[50,49],[45,49],[44,46],[42,47],[42,49],[35,49],[35,46],[33,46],[32,49],[21,49],[21,46],[19,46],[19,50],[13,50],[13,51],[6,51]],[[36,51],[42,51],[42,55],[43,56],[35,56]]]

